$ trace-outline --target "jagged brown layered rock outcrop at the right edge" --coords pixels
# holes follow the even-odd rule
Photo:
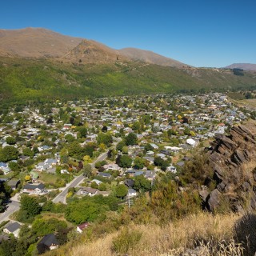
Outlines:
[[[231,207],[234,211],[256,210],[256,126],[234,126],[230,135],[212,143],[209,165],[214,170],[213,189],[200,191],[210,211]],[[211,186],[212,187],[212,186]]]

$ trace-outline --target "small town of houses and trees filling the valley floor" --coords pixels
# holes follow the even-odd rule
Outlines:
[[[35,234],[31,250],[55,249],[109,211],[133,206],[156,178],[178,178],[194,151],[248,118],[219,93],[1,110],[0,182],[10,198],[0,201],[0,241]]]

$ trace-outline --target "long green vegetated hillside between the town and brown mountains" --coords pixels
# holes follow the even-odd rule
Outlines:
[[[102,65],[56,60],[0,58],[2,101],[226,90],[256,86],[254,73],[232,70],[178,69],[142,62]]]

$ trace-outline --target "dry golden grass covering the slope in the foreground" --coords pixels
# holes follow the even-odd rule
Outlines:
[[[130,230],[141,232],[142,238],[127,255],[182,255],[196,248],[197,255],[242,255],[242,248],[234,243],[234,223],[240,218],[236,214],[191,215],[166,226],[129,226]],[[66,255],[118,255],[113,250],[113,239],[121,230],[107,234],[94,242],[74,246]],[[220,254],[222,253],[222,254]],[[62,255],[61,251],[59,254]],[[190,255],[190,254],[188,254]]]

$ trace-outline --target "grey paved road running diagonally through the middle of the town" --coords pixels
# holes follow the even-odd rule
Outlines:
[[[107,157],[107,152],[101,154],[100,156],[98,156],[98,158],[97,158],[93,163],[90,164],[91,167],[94,168],[96,162],[103,161],[103,160],[106,159],[106,157]],[[62,192],[61,192],[60,194],[58,194],[58,195],[53,199],[53,202],[62,202],[62,203],[66,203],[66,194],[68,193],[69,188],[78,186],[78,184],[79,184],[80,182],[82,182],[83,179],[84,179],[84,176],[81,174],[81,175],[79,175],[78,177],[74,178],[74,180],[73,180],[72,182],[66,184],[65,189],[62,190]]]

